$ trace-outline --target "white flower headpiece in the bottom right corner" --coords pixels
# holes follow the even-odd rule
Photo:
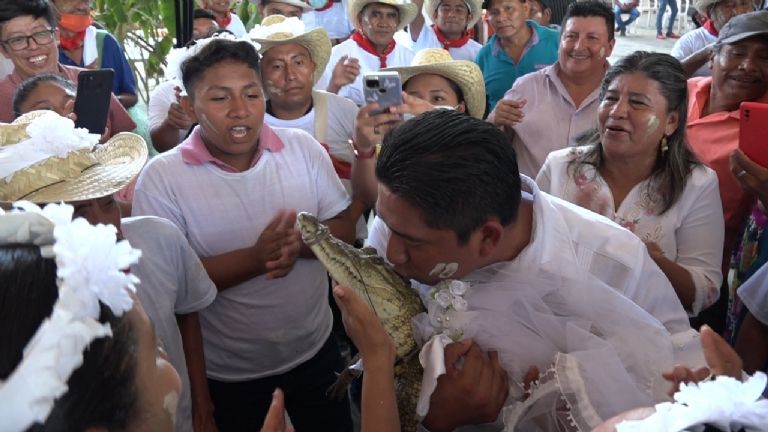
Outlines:
[[[702,431],[705,424],[722,431],[764,431],[768,425],[768,399],[760,396],[766,375],[757,372],[746,382],[728,376],[698,384],[681,384],[674,402],[656,405],[656,412],[643,420],[624,421],[618,432]]]

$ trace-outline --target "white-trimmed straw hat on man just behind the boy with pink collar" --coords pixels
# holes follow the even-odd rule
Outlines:
[[[285,44],[299,44],[309,51],[315,63],[312,75],[313,83],[317,83],[331,58],[331,40],[323,28],[306,31],[304,22],[296,17],[286,18],[282,15],[270,15],[255,26],[248,36],[261,45],[259,54],[264,54],[272,47]]]

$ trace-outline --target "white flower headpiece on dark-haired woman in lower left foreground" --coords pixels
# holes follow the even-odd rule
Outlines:
[[[36,244],[42,256],[55,258],[59,298],[24,348],[21,363],[0,381],[0,419],[3,430],[11,432],[44,423],[82,365],[85,348],[112,335],[109,324],[98,320],[99,302],[117,316],[133,307],[131,293],[139,280],[124,270],[141,255],[127,241],[116,242],[114,226],[72,220],[70,205],[40,209],[21,201],[14,206],[25,211],[0,209],[0,244]]]

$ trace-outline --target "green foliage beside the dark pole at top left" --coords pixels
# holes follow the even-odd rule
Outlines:
[[[176,24],[173,0],[94,0],[96,20],[126,49],[144,101],[162,75],[173,47]]]

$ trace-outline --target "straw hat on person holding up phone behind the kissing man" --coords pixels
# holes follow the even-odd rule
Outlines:
[[[405,83],[421,74],[435,74],[453,81],[464,94],[467,113],[482,119],[485,114],[485,81],[483,73],[474,62],[454,60],[451,54],[442,48],[425,48],[416,53],[410,66],[392,67],[385,71],[397,71],[400,80]]]

